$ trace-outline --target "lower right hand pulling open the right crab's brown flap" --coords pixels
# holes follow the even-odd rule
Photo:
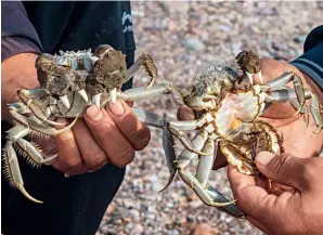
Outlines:
[[[267,178],[290,188],[280,195],[270,194],[267,181],[243,174],[230,165],[229,181],[246,219],[268,235],[321,235],[323,158],[261,152],[256,156],[256,166]]]

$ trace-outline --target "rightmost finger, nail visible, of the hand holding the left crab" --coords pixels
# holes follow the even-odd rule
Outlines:
[[[148,127],[139,121],[125,102],[116,101],[115,104],[109,104],[106,112],[135,151],[143,149],[150,143]]]

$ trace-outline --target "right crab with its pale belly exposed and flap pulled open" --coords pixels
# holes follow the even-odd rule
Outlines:
[[[243,218],[238,208],[232,207],[235,200],[229,201],[208,185],[217,152],[220,151],[240,172],[259,173],[255,165],[257,153],[284,152],[282,136],[270,123],[259,120],[259,116],[276,102],[290,102],[296,108],[295,114],[306,115],[308,127],[306,101],[310,100],[310,113],[318,127],[313,132],[318,134],[322,131],[323,123],[316,95],[303,87],[297,74],[284,73],[263,83],[260,58],[253,51],[242,51],[235,58],[243,75],[216,63],[203,65],[196,71],[192,90],[182,100],[199,118],[167,121],[167,131],[182,143],[184,149],[179,154],[176,154],[178,149],[172,149],[172,156],[167,158],[171,175],[162,191],[170,185],[178,172],[204,204]],[[294,88],[286,86],[290,81]],[[190,140],[184,131],[194,130],[199,133]],[[199,160],[193,175],[186,168],[196,157]]]

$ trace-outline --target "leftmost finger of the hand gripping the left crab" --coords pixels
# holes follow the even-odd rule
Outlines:
[[[66,123],[68,122],[65,118],[57,118],[57,121]],[[81,154],[78,149],[77,142],[74,138],[72,129],[56,136],[56,145],[59,157],[52,164],[55,169],[63,173],[69,174],[69,171],[72,169],[80,169],[82,167]]]

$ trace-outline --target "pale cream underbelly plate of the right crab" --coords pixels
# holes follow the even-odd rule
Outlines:
[[[240,135],[260,113],[259,97],[253,91],[229,93],[215,114],[217,132],[223,138]]]

